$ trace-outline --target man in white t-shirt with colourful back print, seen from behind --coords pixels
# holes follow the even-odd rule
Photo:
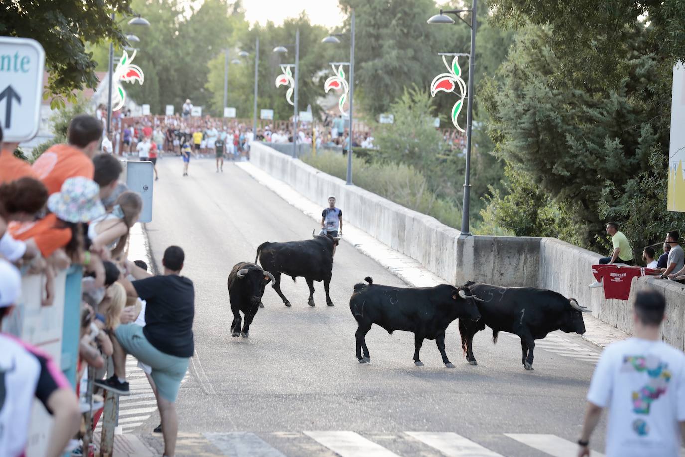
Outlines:
[[[685,354],[661,341],[664,308],[660,293],[638,293],[634,336],[604,349],[588,391],[579,457],[590,455],[590,435],[603,408],[609,408],[608,457],[680,454],[685,432]]]

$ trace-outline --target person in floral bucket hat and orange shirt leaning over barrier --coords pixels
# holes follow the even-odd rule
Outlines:
[[[105,212],[99,191],[97,183],[87,177],[69,178],[60,192],[48,198],[50,213],[39,221],[12,227],[12,236],[18,240],[32,240],[43,257],[52,258],[53,264],[60,269],[71,263],[84,265],[86,271],[95,273],[97,282],[104,284],[101,260],[97,256],[91,258],[90,252],[84,250],[83,223]]]

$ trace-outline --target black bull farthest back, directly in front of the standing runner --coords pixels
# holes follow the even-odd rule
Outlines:
[[[264,271],[273,275],[273,290],[281,297],[285,306],[290,306],[290,301],[281,292],[281,274],[292,277],[292,282],[295,282],[296,277],[304,277],[309,287],[309,306],[314,306],[314,281],[323,281],[326,304],[333,306],[328,295],[328,285],[333,269],[333,250],[338,245],[339,238],[313,234],[312,238],[288,243],[262,243],[257,248],[255,263],[259,260]]]

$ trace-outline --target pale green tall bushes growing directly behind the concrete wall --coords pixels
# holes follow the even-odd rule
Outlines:
[[[302,156],[301,160],[342,180],[347,177],[347,156],[324,152],[317,156]],[[401,163],[369,163],[353,157],[352,173],[356,186],[412,210],[428,214],[450,227],[460,227],[460,208],[436,197],[429,190],[425,176],[413,166]]]

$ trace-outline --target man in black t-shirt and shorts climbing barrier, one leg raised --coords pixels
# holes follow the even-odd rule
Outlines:
[[[129,297],[145,300],[145,327],[135,323],[119,325],[114,330],[114,375],[95,384],[120,395],[129,395],[125,380],[126,354],[149,365],[157,387],[157,406],[162,418],[164,455],[173,456],[178,435],[176,397],[188,371],[188,362],[195,353],[192,321],[195,319],[195,288],[187,277],[180,275],[185,254],[170,246],[164,251],[164,275],[152,276],[127,262],[134,282],[119,280]]]

